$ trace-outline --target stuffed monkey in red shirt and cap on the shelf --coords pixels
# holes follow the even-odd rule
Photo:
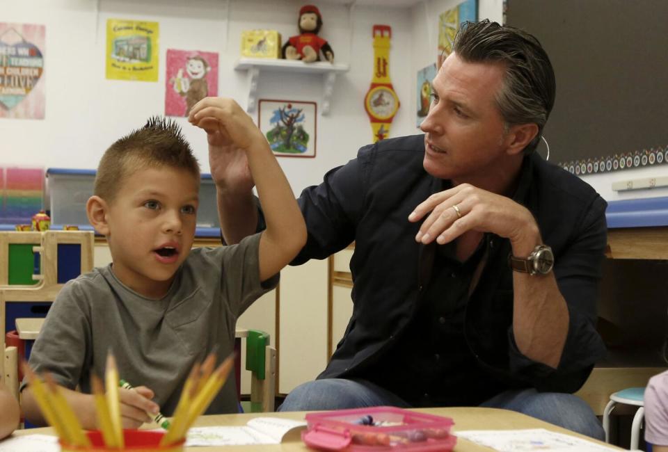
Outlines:
[[[299,10],[299,36],[292,36],[283,46],[283,58],[303,60],[306,63],[320,60],[320,51],[330,63],[334,61],[334,51],[326,40],[318,36],[322,26],[322,16],[315,5],[305,5]]]

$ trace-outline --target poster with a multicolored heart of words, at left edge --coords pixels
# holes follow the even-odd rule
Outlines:
[[[44,119],[45,26],[0,22],[0,118]]]

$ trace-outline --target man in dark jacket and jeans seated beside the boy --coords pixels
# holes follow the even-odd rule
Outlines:
[[[569,393],[605,353],[606,203],[534,153],[550,60],[523,31],[468,23],[432,92],[424,136],[364,147],[299,198],[309,234],[293,264],[355,241],[354,307],[325,371],[281,409],[483,405],[602,438]],[[232,243],[257,223],[236,155],[212,162]]]

